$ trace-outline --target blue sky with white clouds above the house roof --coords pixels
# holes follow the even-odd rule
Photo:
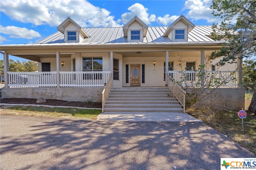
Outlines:
[[[148,26],[169,26],[181,14],[195,25],[212,25],[220,18],[212,16],[211,4],[212,0],[1,0],[0,43],[35,43],[57,32],[68,16],[82,27],[119,27],[135,15]]]

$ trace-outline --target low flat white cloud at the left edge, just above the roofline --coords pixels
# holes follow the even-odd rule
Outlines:
[[[0,26],[0,30],[3,34],[11,35],[10,38],[33,39],[41,37],[41,35],[34,30],[28,30],[27,28],[20,28],[16,26]]]

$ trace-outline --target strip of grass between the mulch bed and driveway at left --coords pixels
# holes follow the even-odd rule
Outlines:
[[[73,109],[59,107],[13,106],[0,109],[1,115],[24,115],[38,117],[79,118],[96,120],[100,109]]]

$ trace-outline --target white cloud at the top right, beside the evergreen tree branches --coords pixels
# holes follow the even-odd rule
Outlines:
[[[187,0],[185,2],[185,9],[188,9],[186,17],[192,18],[193,20],[206,20],[208,23],[220,22],[220,18],[212,15],[210,6],[212,0]]]

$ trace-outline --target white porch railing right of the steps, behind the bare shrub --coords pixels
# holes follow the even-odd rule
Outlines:
[[[198,83],[198,77],[196,71],[168,71],[170,77],[176,82],[180,82],[182,86],[193,87]],[[207,83],[211,83],[214,87],[214,81],[210,79],[218,79],[222,83],[220,87],[238,87],[238,71],[206,71],[205,79]],[[226,82],[227,80],[230,80]],[[209,84],[208,84],[209,85]]]

